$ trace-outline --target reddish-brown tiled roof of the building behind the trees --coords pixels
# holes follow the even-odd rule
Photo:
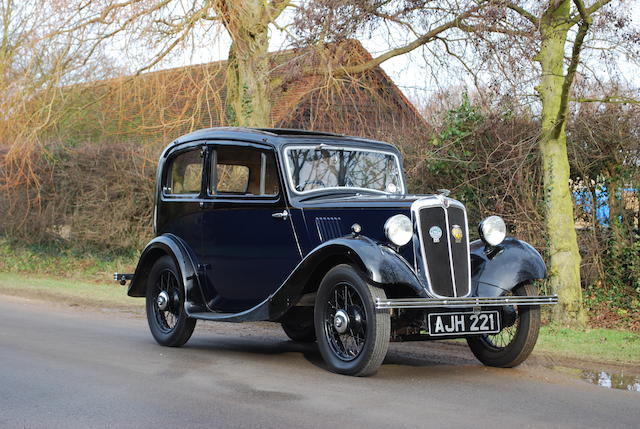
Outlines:
[[[320,63],[335,67],[370,58],[370,54],[356,40],[324,45],[320,49],[290,49],[271,53],[269,78],[276,83],[271,93],[271,125],[305,125],[296,122],[294,116],[300,113],[301,105],[318,101],[326,78],[324,74],[301,73],[301,70],[317,69]],[[226,66],[226,61],[217,61],[93,82],[74,87],[80,91],[75,91],[76,95],[69,94],[68,101],[76,106],[75,110],[71,109],[74,110],[75,119],[86,124],[77,128],[87,134],[91,134],[94,126],[114,135],[135,133],[154,136],[159,133],[175,136],[176,133],[198,128],[224,126],[227,125],[224,107]],[[367,85],[373,82],[373,86],[384,89],[386,99],[392,100],[385,106],[386,109],[397,110],[404,117],[411,117],[413,122],[424,122],[381,68],[375,67],[364,78],[349,78],[354,79],[356,86],[360,85],[358,79],[363,82],[366,80]],[[350,104],[343,110],[365,111],[364,104],[367,103],[380,109],[379,101],[367,101],[368,95],[362,88],[352,88],[351,91],[360,91],[362,94],[357,100],[351,97],[344,101]],[[334,97],[324,103],[330,109],[339,107],[341,102]],[[391,116],[397,115],[394,113]],[[325,126],[331,127],[331,124]]]

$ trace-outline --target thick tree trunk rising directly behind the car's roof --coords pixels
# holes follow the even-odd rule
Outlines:
[[[261,0],[218,2],[232,39],[227,67],[226,118],[240,127],[271,126],[268,5]]]

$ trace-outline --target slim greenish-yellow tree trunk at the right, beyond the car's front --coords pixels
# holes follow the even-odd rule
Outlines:
[[[550,1],[540,21],[542,43],[536,60],[542,67],[536,88],[542,101],[540,151],[545,189],[545,223],[549,237],[549,280],[560,304],[554,318],[568,326],[584,326],[578,251],[573,201],[569,185],[566,115],[562,112],[563,70],[570,1]],[[568,96],[564,94],[564,96]]]

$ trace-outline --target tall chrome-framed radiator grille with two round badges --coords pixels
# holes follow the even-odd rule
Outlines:
[[[437,297],[470,292],[469,231],[464,206],[435,197],[418,200],[412,209],[419,235],[417,269]]]

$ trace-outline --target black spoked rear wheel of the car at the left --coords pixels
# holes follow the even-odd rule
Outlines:
[[[186,343],[196,320],[184,311],[184,285],[173,258],[158,259],[147,280],[147,321],[153,338],[163,346]]]

